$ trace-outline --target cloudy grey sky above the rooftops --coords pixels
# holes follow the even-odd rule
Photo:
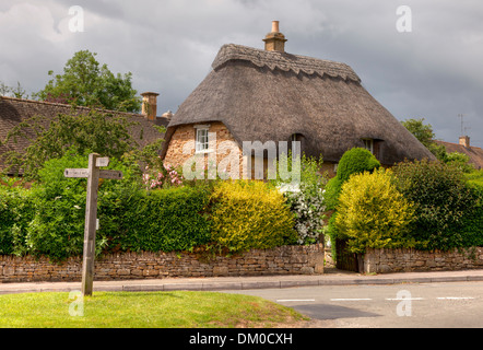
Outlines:
[[[84,32],[69,31],[69,8],[84,10]],[[396,28],[400,5],[412,32]],[[0,81],[32,94],[75,51],[97,52],[139,93],[161,93],[176,112],[203,80],[223,44],[262,48],[280,21],[286,50],[350,65],[398,119],[421,118],[458,142],[460,119],[483,147],[483,3],[479,0],[2,0]]]

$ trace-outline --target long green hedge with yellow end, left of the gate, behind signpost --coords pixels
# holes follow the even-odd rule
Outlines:
[[[46,162],[32,189],[0,186],[1,255],[52,260],[82,255],[86,180],[66,178],[63,170],[86,165],[85,156],[69,153]],[[283,195],[264,183],[146,190],[129,164],[113,161],[109,167],[121,170],[125,179],[99,182],[97,255],[203,245],[239,252],[296,241]],[[238,231],[240,225],[245,229]]]

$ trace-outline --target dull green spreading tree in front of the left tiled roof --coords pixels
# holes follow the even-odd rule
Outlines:
[[[150,163],[150,159],[157,156],[163,141],[160,138],[139,150],[138,143],[129,133],[129,127],[137,124],[136,121],[94,109],[89,114],[58,115],[48,128],[39,119],[42,118],[33,117],[19,124],[4,141],[17,142],[22,138],[28,140],[30,145],[24,152],[5,153],[5,164],[9,164],[11,170],[23,171],[26,179],[37,179],[38,170],[46,161],[60,159],[72,149],[79,154],[96,152],[115,159],[121,159],[129,152],[138,152],[131,155],[138,161]],[[158,131],[164,130],[158,128]]]

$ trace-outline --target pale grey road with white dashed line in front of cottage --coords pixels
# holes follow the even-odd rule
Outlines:
[[[483,282],[229,291],[295,308],[320,328],[483,328]]]

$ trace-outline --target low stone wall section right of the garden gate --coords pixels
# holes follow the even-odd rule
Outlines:
[[[483,269],[483,247],[449,252],[368,249],[363,257],[365,273]]]

